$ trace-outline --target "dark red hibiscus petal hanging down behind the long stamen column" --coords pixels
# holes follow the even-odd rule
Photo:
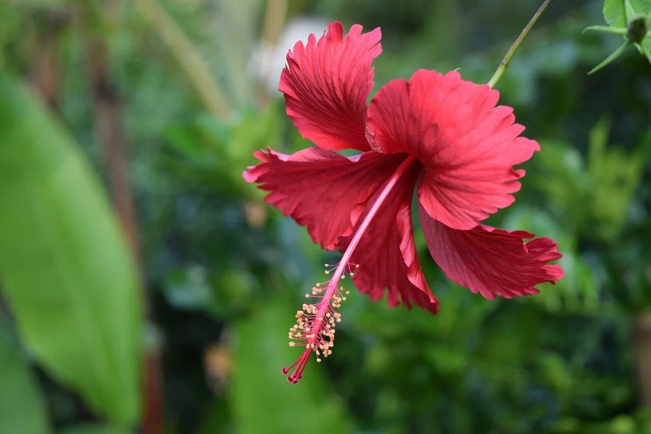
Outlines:
[[[405,154],[402,155],[404,158]],[[411,228],[411,196],[420,171],[421,165],[415,164],[396,183],[350,260],[360,265],[354,270],[355,287],[368,294],[371,300],[380,300],[386,288],[389,306],[397,306],[402,301],[408,309],[413,303],[436,313],[439,302],[422,274]],[[376,192],[368,203],[374,203],[379,193]],[[359,224],[368,208],[360,216]],[[352,236],[342,238],[339,250],[346,250],[350,240]]]

